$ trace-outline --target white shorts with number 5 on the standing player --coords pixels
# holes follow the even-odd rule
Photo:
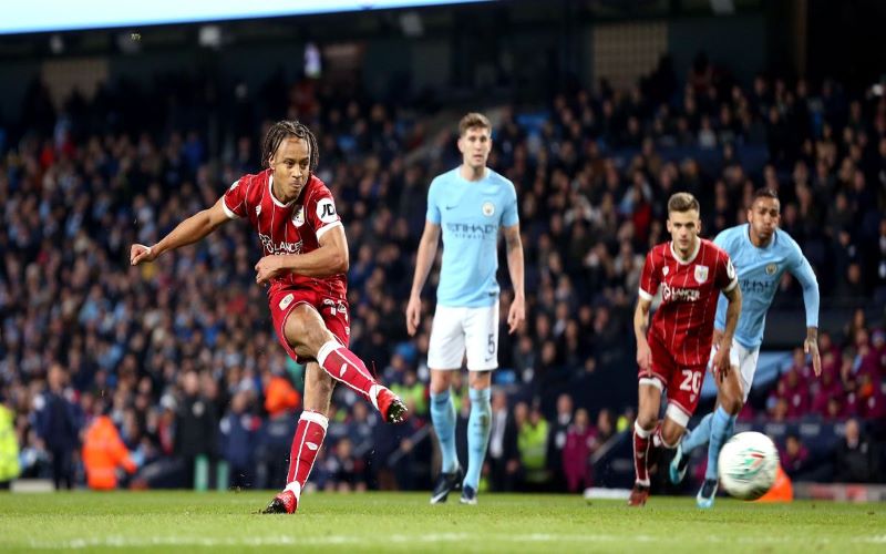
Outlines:
[[[480,308],[436,307],[427,345],[427,367],[462,369],[465,353],[468,371],[498,367],[498,300]]]

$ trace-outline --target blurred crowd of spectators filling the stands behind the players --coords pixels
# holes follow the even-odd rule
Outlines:
[[[259,171],[264,125],[291,117],[317,133],[318,173],[346,223],[351,348],[413,414],[403,427],[379,424],[339,390],[312,481],[430,486],[433,299],[414,340],[403,310],[429,178],[459,163],[455,130],[431,132],[421,107],[311,80],[278,75],[256,93],[238,83],[207,94],[199,79],[148,89],[122,81],[58,110],[35,82],[21,122],[0,129],[0,400],[14,413],[23,474],[84,482],[80,447],[106,414],[131,453],[131,463],[111,463],[135,471],[133,486],[198,483],[205,464],[222,460],[224,486],[280,484],[302,368],[269,327],[247,226],[144,267],[127,259],[132,243],[153,244]],[[632,389],[630,308],[676,191],[701,201],[713,237],[744,220],[756,187],[776,189],[782,227],[813,264],[824,305],[886,304],[886,100],[830,81],[761,75],[742,88],[705,63],[678,82],[663,62],[630,91],[602,82],[495,112],[490,165],[518,191],[528,302],[527,325],[501,334],[495,489],[579,490],[594,481],[591,453],[630,424],[635,398],[612,404],[599,389]],[[222,122],[214,134],[209,121]],[[790,278],[782,289],[776,302],[797,302]],[[882,421],[883,325],[858,310],[843,332],[823,332],[822,378],[810,377],[801,350],[745,416]],[[463,425],[467,396],[456,397]]]

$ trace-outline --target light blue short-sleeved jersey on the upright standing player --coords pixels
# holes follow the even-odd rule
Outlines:
[[[437,304],[461,308],[495,304],[498,228],[519,223],[514,184],[490,168],[483,179],[466,181],[456,167],[431,183],[426,217],[440,225],[443,235]]]

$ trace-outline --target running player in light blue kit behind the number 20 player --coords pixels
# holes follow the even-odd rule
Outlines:
[[[780,211],[779,196],[772,189],[761,188],[754,193],[748,211],[748,224],[728,228],[714,239],[714,244],[732,258],[739,273],[743,302],[732,343],[731,370],[717,376],[715,380],[718,406],[713,413],[705,416],[696,429],[687,433],[670,464],[670,479],[677,484],[686,475],[691,452],[708,443],[708,469],[704,483],[696,496],[699,507],[713,506],[718,456],[723,444],[732,437],[735,418],[748,401],[760,345],[763,342],[766,311],[784,271],[790,271],[803,286],[803,304],[806,307],[806,340],[803,348],[812,356],[815,375],[822,372],[818,355],[818,283],[800,246],[779,228]],[[717,306],[714,334],[722,332],[725,307],[725,298],[721,296]]]

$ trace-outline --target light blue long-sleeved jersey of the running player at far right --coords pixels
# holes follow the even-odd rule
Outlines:
[[[741,315],[735,329],[735,340],[745,348],[756,348],[763,342],[766,311],[779,290],[784,271],[790,271],[803,286],[806,307],[806,327],[818,327],[818,281],[800,245],[791,235],[776,229],[764,248],[751,243],[750,224],[730,227],[714,238],[723,248],[739,274],[741,287]],[[720,295],[717,304],[717,329],[725,328],[727,298]]]

